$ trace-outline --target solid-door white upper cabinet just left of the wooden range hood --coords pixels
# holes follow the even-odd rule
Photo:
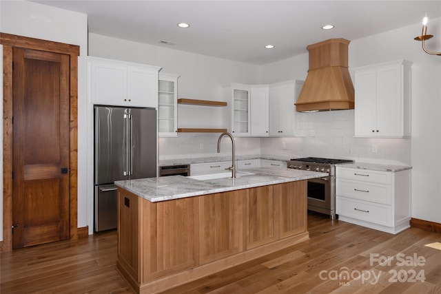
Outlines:
[[[303,81],[286,81],[269,85],[269,135],[293,136],[298,94]]]

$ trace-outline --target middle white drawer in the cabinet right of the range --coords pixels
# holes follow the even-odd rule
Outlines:
[[[341,178],[336,180],[336,195],[381,204],[391,204],[392,202],[390,185],[350,181]]]

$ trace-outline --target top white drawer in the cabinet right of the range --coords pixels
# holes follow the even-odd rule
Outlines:
[[[367,169],[349,169],[347,167],[337,167],[337,178],[348,180],[358,180],[362,182],[378,182],[381,184],[391,184],[392,173],[388,171],[370,171]]]

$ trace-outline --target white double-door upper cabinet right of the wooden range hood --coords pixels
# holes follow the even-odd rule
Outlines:
[[[411,62],[357,67],[355,136],[411,136]]]

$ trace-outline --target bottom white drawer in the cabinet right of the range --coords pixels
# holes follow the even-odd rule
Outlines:
[[[365,220],[367,222],[382,224],[388,227],[392,226],[391,207],[386,205],[337,196],[336,211],[337,214],[341,216]]]

